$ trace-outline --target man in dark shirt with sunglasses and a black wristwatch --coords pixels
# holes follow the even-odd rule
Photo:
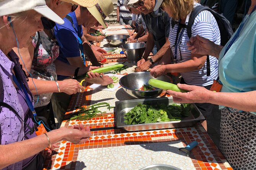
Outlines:
[[[165,52],[170,48],[168,40],[170,32],[170,17],[165,11],[159,8],[153,11],[157,0],[130,0],[128,4],[132,4],[134,8],[138,8],[142,12],[142,18],[145,21],[149,32],[147,45],[142,59],[137,62],[136,71],[146,71],[156,61],[160,60]],[[146,61],[154,45],[157,46],[157,54]]]

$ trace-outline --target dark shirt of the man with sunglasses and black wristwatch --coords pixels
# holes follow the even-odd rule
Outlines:
[[[157,3],[157,0],[156,0]],[[157,51],[166,42],[166,38],[169,37],[170,32],[170,17],[169,15],[159,8],[150,14],[141,14],[143,20],[145,21],[148,32],[153,34],[155,45],[157,46]]]

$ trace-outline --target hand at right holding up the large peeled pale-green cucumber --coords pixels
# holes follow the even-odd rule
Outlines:
[[[167,90],[166,92],[173,96],[173,101],[177,103],[210,103],[209,99],[213,91],[207,90],[204,87],[177,84],[179,88],[188,90],[187,93]]]

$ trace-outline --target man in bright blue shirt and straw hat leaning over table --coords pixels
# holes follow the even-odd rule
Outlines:
[[[104,18],[106,18],[113,9],[114,7],[111,0],[104,0],[104,3],[103,0],[99,0],[98,4],[91,8],[78,6],[74,12],[69,13],[64,18],[64,24],[56,24],[54,32],[60,47],[60,55],[57,59],[72,66],[85,67],[85,63],[82,58],[83,53],[86,53],[86,56],[88,56],[93,66],[101,66],[83,35],[82,25],[90,29],[91,26],[98,26],[100,23],[106,28]],[[85,48],[90,50],[85,51]],[[58,79],[65,78],[65,76],[58,76]],[[107,77],[104,76],[97,83],[101,85],[108,85],[111,81],[110,79],[111,78],[107,79]],[[95,81],[95,79],[91,81]]]

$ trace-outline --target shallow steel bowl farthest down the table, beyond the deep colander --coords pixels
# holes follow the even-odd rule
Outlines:
[[[118,34],[118,35],[108,35],[105,38],[109,43],[109,45],[112,45],[114,47],[119,47],[120,45],[127,43],[129,37],[130,35]]]

